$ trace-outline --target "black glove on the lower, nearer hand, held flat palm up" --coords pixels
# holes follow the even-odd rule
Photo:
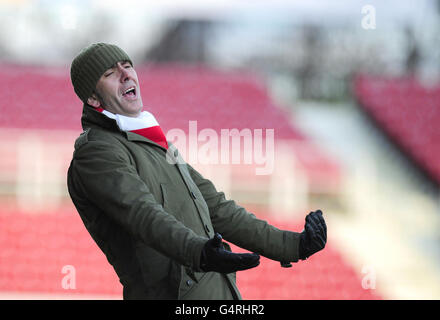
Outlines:
[[[231,273],[254,268],[259,264],[260,256],[256,253],[232,253],[225,250],[219,233],[206,242],[200,258],[200,268],[205,272]]]

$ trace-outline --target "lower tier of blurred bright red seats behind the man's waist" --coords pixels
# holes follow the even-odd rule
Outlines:
[[[281,229],[302,229],[301,224],[269,222]],[[0,248],[0,292],[122,297],[115,272],[73,207],[34,216],[1,214]],[[232,248],[244,252],[234,245]],[[63,286],[66,266],[75,270],[74,288]],[[237,284],[244,299],[380,298],[375,290],[362,288],[360,271],[353,269],[332,243],[292,268],[283,269],[278,262],[262,257],[257,268],[238,272]]]

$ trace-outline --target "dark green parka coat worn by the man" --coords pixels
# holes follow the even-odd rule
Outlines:
[[[279,230],[226,200],[171,144],[167,152],[121,131],[89,106],[81,121],[68,190],[115,269],[124,299],[241,299],[235,274],[200,269],[202,248],[214,232],[267,258],[298,261],[299,233]]]

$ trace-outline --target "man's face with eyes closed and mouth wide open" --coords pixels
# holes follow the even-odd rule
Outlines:
[[[136,117],[142,111],[139,81],[130,62],[118,62],[106,70],[96,84],[96,94],[92,101],[89,99],[94,107],[129,117]]]

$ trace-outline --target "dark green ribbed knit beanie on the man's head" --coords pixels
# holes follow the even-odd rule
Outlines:
[[[118,46],[108,43],[94,43],[73,59],[70,67],[70,80],[78,97],[87,103],[87,99],[96,88],[104,72],[119,61],[128,61],[130,57]]]

